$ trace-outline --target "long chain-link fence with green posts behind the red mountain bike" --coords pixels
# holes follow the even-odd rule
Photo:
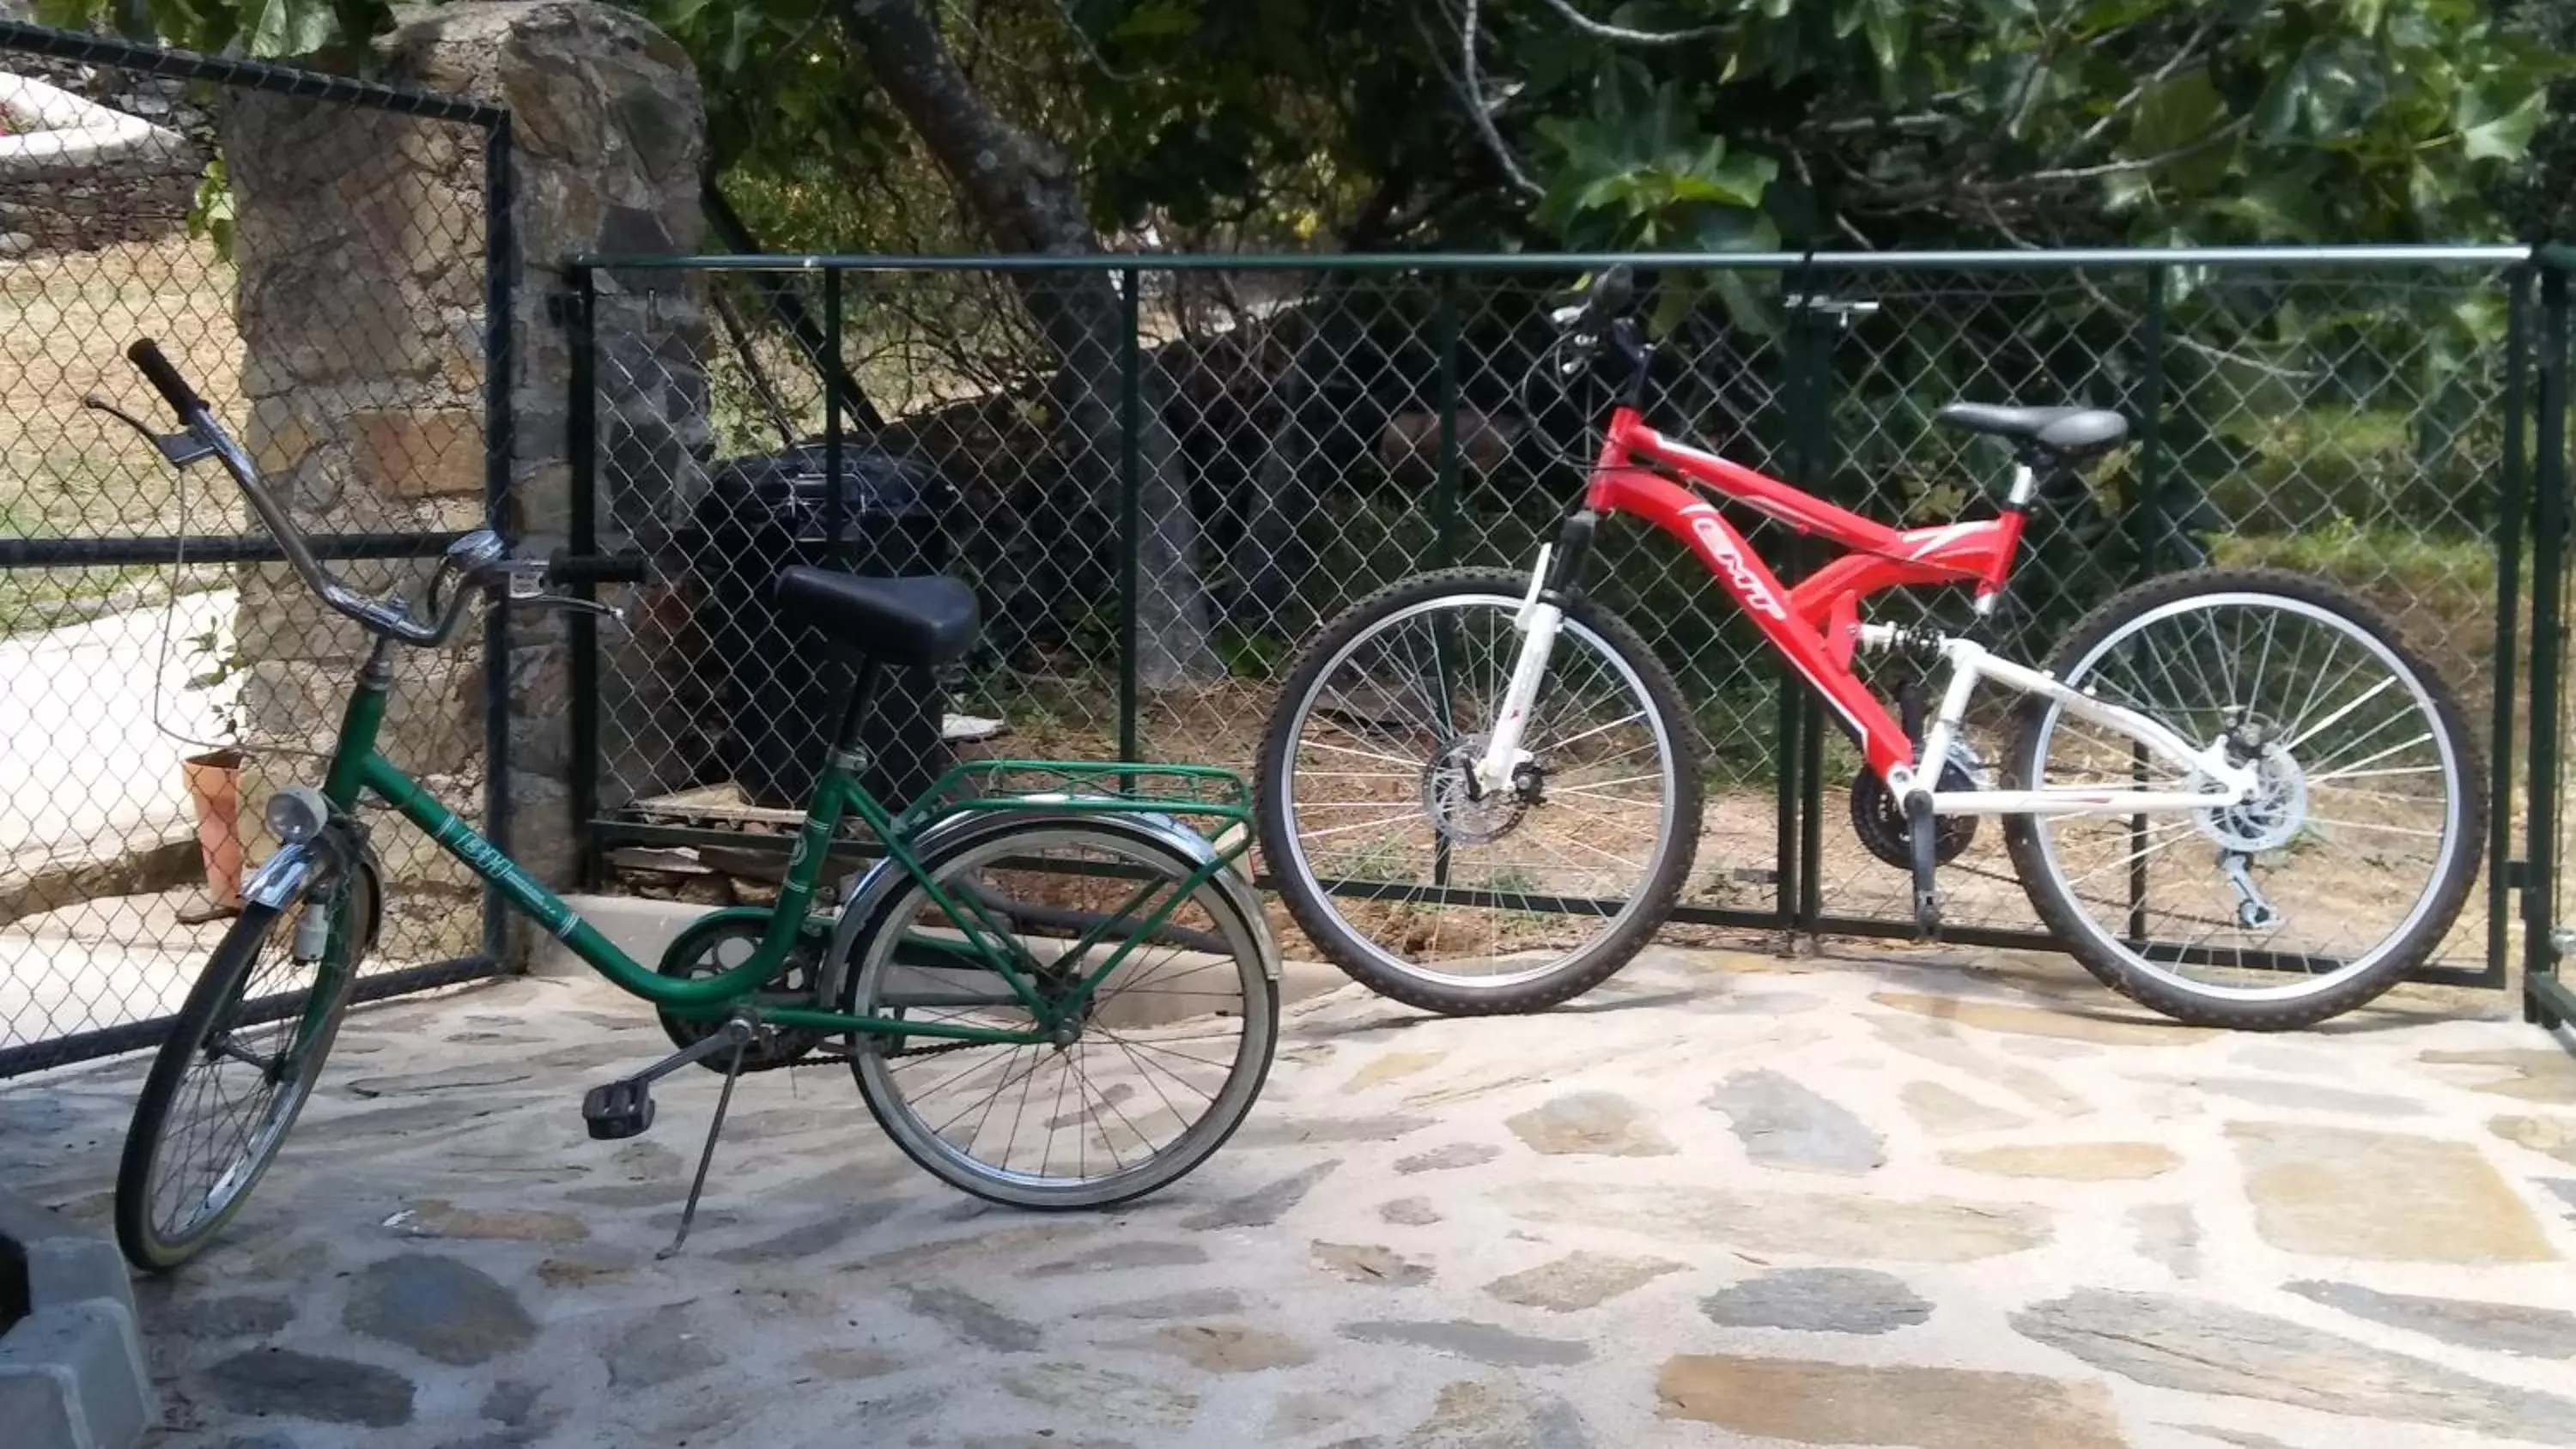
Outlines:
[[[2202,561],[2349,584],[2463,690],[2496,767],[2504,860],[2530,705],[2522,252],[1662,263],[1646,278],[1656,427],[1873,517],[1942,522],[2002,497],[2009,453],[1935,427],[1947,401],[2125,412],[2130,445],[2043,497],[1999,649],[2045,664],[2123,584]],[[760,582],[783,561],[945,569],[984,600],[979,654],[914,679],[894,710],[878,788],[904,793],[956,752],[1249,770],[1275,682],[1321,620],[1422,569],[1528,569],[1553,538],[1605,417],[1600,391],[1548,368],[1548,311],[1584,270],[574,268],[592,347],[574,407],[592,409],[577,427],[595,435],[600,499],[574,551],[649,558],[626,592],[639,628],[577,643],[592,872],[765,898],[840,679],[822,641],[762,613]],[[696,409],[703,438],[636,445],[649,430],[621,422],[634,409]],[[1816,561],[1777,525],[1757,520],[1752,540],[1788,579]],[[1705,569],[1613,525],[1589,577],[1674,669],[1703,736],[1708,808],[1674,932],[1909,932],[1906,872],[1852,824],[1857,752]],[[1911,600],[1883,595],[1878,618],[1965,605]],[[799,661],[786,682],[778,659]],[[1976,723],[1996,764],[2007,721]],[[804,772],[781,775],[799,752]],[[1986,821],[1942,872],[1947,929],[2043,945],[1999,836]],[[2437,975],[2499,981],[2501,872],[2486,898]]]

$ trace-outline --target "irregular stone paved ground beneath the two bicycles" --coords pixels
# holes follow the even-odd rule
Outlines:
[[[677,1261],[714,1078],[636,1143],[574,1109],[641,1009],[374,1009],[234,1235],[144,1284],[160,1444],[2576,1444],[2576,1060],[2499,999],[2231,1037],[1968,965],[1337,991],[1115,1217],[979,1207],[837,1071],[752,1078]],[[0,1094],[0,1171],[103,1215],[137,1076]]]

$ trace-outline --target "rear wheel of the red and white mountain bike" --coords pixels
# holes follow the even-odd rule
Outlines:
[[[2458,700],[2365,602],[2272,569],[2174,574],[2081,620],[2050,669],[2195,746],[2226,739],[2259,777],[2226,811],[2004,821],[2032,909],[2110,988],[2182,1022],[2306,1027],[2442,945],[2486,770]],[[2053,700],[2025,713],[2012,772],[2202,788]]]

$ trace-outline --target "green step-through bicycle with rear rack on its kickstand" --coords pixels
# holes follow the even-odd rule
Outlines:
[[[304,584],[374,638],[322,788],[268,800],[263,818],[281,844],[245,883],[240,919],[144,1078],[116,1174],[116,1238],[139,1269],[204,1251],[312,1096],[381,919],[384,875],[358,818],[368,795],[659,1009],[677,1053],[592,1089],[582,1099],[592,1138],[644,1132],[652,1084],[683,1066],[724,1073],[665,1256],[688,1238],[744,1071],[840,1055],[914,1163],[976,1197],[1038,1210],[1157,1192],[1252,1109],[1278,1042],[1278,947],[1234,867],[1252,842],[1239,777],[1180,764],[969,762],[899,813],[858,782],[866,754],[855,741],[878,667],[966,654],[971,589],[822,569],[778,577],[791,618],[863,651],[858,687],[778,903],[711,911],[647,970],[376,752],[394,646],[446,643],[477,595],[616,610],[544,592],[546,564],[513,558],[489,530],[448,546],[420,613],[350,589],[170,360],[152,342],[126,355],[183,432],[160,435],[98,396],[88,407],[149,438],[178,468],[214,458]],[[817,883],[848,816],[884,857],[824,916]]]

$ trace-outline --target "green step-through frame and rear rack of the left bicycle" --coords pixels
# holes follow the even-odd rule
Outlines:
[[[1092,770],[1092,767],[1059,767],[1051,762],[984,762],[979,767],[958,767],[940,777],[920,803],[914,803],[902,816],[889,816],[886,808],[860,785],[858,775],[850,770],[845,752],[832,752],[817,785],[814,800],[806,808],[806,818],[796,831],[796,844],[788,854],[786,880],[778,888],[778,901],[770,906],[770,921],[762,932],[760,947],[750,960],[732,965],[716,975],[703,978],[675,978],[644,968],[631,955],[618,950],[616,942],[603,937],[590,921],[585,921],[572,906],[567,906],[554,891],[544,888],[515,860],[500,852],[492,842],[474,831],[464,818],[448,811],[438,798],[433,798],[417,780],[404,775],[394,762],[376,752],[376,736],[384,726],[386,697],[392,687],[389,669],[384,667],[386,646],[379,643],[376,656],[368,661],[358,690],[348,700],[348,710],[340,721],[340,739],[332,749],[330,772],[322,782],[322,795],[340,813],[353,813],[361,793],[374,793],[389,803],[402,818],[412,821],[428,836],[461,860],[474,875],[487,880],[502,898],[510,901],[520,914],[541,924],[554,939],[564,942],[572,955],[587,963],[592,970],[613,981],[621,991],[641,996],[654,1006],[670,1011],[672,1017],[714,1019],[724,1017],[737,1001],[757,991],[762,983],[775,978],[788,963],[796,947],[796,937],[806,929],[806,909],[814,903],[814,885],[822,878],[824,860],[829,857],[832,836],[840,831],[845,816],[855,813],[866,821],[868,831],[884,844],[886,857],[938,903],[958,932],[966,937],[963,947],[953,942],[938,942],[943,955],[963,957],[961,965],[981,965],[999,975],[1012,996],[1030,1011],[1036,1022],[1033,1029],[999,1029],[999,1027],[969,1027],[951,1022],[914,1022],[899,1017],[858,1017],[848,1011],[827,1011],[819,1006],[762,1006],[760,1017],[781,1027],[806,1027],[827,1032],[876,1032],[876,1035],[902,1035],[902,1037],[948,1037],[963,1042],[997,1042],[997,1045],[1041,1045],[1056,1037],[1056,1027],[1082,1011],[1092,991],[1126,960],[1136,942],[1157,932],[1182,901],[1195,896],[1208,880],[1216,878],[1239,857],[1249,844],[1249,808],[1242,806],[1213,806],[1190,803],[1185,808],[1195,813],[1211,813],[1244,826],[1244,842],[1231,849],[1218,849],[1213,860],[1198,865],[1170,898],[1157,906],[1126,942],[1121,942],[1100,965],[1087,970],[1072,991],[1048,1001],[1033,981],[1038,963],[1028,950],[1002,929],[992,914],[974,898],[958,898],[930,878],[920,854],[914,854],[912,842],[920,831],[940,818],[951,818],[971,811],[1030,811],[1046,808],[1054,813],[1139,813],[1157,808],[1157,803],[1128,800],[1128,798],[1066,798],[1066,800],[1030,800],[1015,795],[987,795],[966,793],[958,795],[953,785],[969,770]],[[1105,770],[1105,767],[1103,767]],[[1224,770],[1203,767],[1175,767],[1159,764],[1149,767],[1157,775],[1177,777],[1226,777]],[[1144,903],[1144,896],[1157,883],[1146,883],[1144,891],[1131,896],[1118,914],[1105,916],[1092,924],[1066,960],[1082,960],[1084,952],[1100,945],[1100,937]],[[379,906],[381,909],[381,906]]]

